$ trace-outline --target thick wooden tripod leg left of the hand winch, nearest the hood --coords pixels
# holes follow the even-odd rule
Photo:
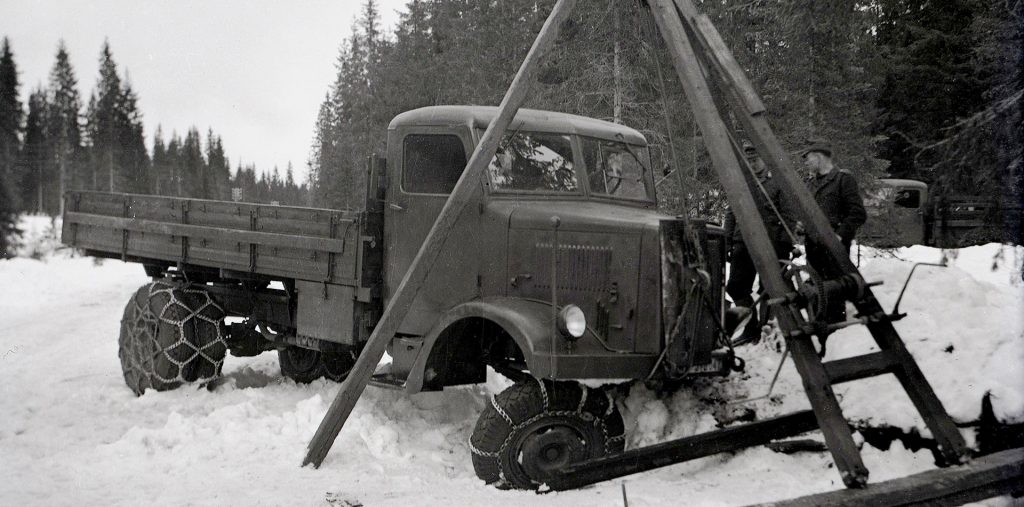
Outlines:
[[[725,188],[729,205],[740,224],[739,230],[743,243],[751,253],[751,259],[754,261],[768,294],[771,297],[782,297],[792,289],[782,280],[778,259],[775,257],[775,249],[768,238],[768,231],[754,202],[751,189],[740,172],[739,161],[733,151],[728,130],[722,120],[721,113],[715,107],[711,89],[701,74],[697,56],[686,35],[682,18],[672,0],[649,0],[648,4],[654,22],[657,24],[672,54],[673,66],[676,68],[690,108],[693,110],[693,116],[700,126],[705,145],[708,146],[719,181]],[[779,150],[781,149],[779,147]],[[820,210],[817,212],[819,215],[821,214]],[[827,226],[827,223],[825,225]],[[786,332],[800,329],[801,318],[788,308],[779,311],[778,319],[780,326]],[[850,487],[866,483],[867,468],[860,459],[860,452],[853,441],[849,425],[843,418],[824,367],[821,362],[817,361],[810,337],[801,336],[788,341],[797,369],[803,379],[804,390],[811,400],[811,407],[824,434],[825,442],[833,451],[840,475],[844,482]]]

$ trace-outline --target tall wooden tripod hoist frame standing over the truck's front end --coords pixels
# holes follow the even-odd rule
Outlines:
[[[874,341],[879,344],[879,352],[822,363],[811,341],[814,328],[803,316],[801,308],[793,302],[775,306],[779,326],[784,333],[797,371],[803,380],[804,390],[811,404],[813,422],[824,434],[825,443],[831,452],[843,482],[850,488],[863,487],[867,482],[868,471],[861,460],[860,452],[853,440],[850,426],[843,416],[831,385],[885,373],[893,373],[899,379],[903,389],[908,393],[918,412],[921,413],[938,441],[939,452],[945,463],[966,462],[968,449],[963,436],[925,379],[913,357],[906,350],[899,334],[893,328],[889,315],[882,309],[870,289],[863,285],[860,272],[850,261],[846,250],[836,238],[821,209],[793,169],[788,155],[768,126],[764,104],[731,52],[726,48],[710,18],[697,12],[691,0],[648,0],[647,3],[672,55],[673,66],[679,75],[686,97],[703,134],[718,178],[725,188],[729,206],[736,216],[743,242],[749,246],[751,257],[769,297],[776,301],[792,301],[793,288],[782,278],[774,249],[768,238],[768,231],[743,176],[740,158],[736,153],[731,134],[722,120],[723,112],[730,107],[739,120],[743,131],[750,136],[762,159],[771,168],[785,196],[797,205],[801,219],[807,226],[810,240],[826,248],[833,261],[842,268],[847,277],[860,282],[859,297],[853,302],[861,315],[869,316],[864,321]],[[342,384],[313,439],[309,442],[303,465],[319,466],[327,456],[355,402],[366,388],[388,341],[394,336],[399,323],[404,319],[409,307],[429,274],[449,231],[459,219],[474,193],[479,192],[480,185],[478,183],[483,177],[487,163],[495,156],[502,135],[519,107],[522,105],[542,57],[554,45],[562,23],[568,17],[574,5],[575,0],[558,0],[553,7],[506,92],[498,114],[487,126],[480,142],[470,157],[465,172],[456,183],[423,246],[359,354],[352,372]],[[706,75],[711,77],[720,93],[712,93],[711,83],[706,79]],[[600,477],[597,480],[602,480],[626,473],[634,473],[640,469],[678,463],[686,459],[722,452],[725,450],[722,442],[727,442],[728,449],[756,445],[763,439],[757,434],[761,433],[762,436],[766,434],[766,427],[771,428],[775,434],[785,434],[798,429],[801,431],[813,429],[814,424],[811,424],[809,417],[810,414],[804,415],[803,413],[788,419],[783,416],[762,423],[754,423],[748,425],[746,428],[729,428],[723,430],[721,434],[715,432],[685,438],[678,442],[660,445],[665,449],[660,449],[659,452],[663,455],[666,453],[673,455],[676,457],[675,459],[664,459],[664,457],[663,459],[653,459],[652,451],[654,450],[652,449],[646,450],[646,454],[644,454],[645,450],[634,450],[635,453],[632,455],[634,457],[651,458],[645,464],[646,466],[625,468],[620,466],[616,471],[608,471],[610,470],[608,464],[613,465],[612,462],[616,462],[615,457],[608,457],[598,461],[609,463],[603,465],[594,463],[598,468],[603,467],[605,472],[603,475],[594,474],[593,470],[588,472],[586,465],[591,463],[588,462],[581,464],[581,466],[569,467],[569,470],[566,470],[567,475],[563,478],[574,476],[573,480],[556,480],[555,482],[561,482],[562,485],[566,487],[568,484],[578,487],[593,482],[594,480],[591,479],[597,477]],[[795,422],[799,422],[799,424]],[[678,450],[683,447],[696,449],[696,452],[678,453]],[[642,460],[634,461],[640,462]]]

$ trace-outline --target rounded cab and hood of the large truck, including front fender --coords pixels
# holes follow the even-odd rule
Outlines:
[[[388,127],[385,300],[496,112],[424,108]],[[485,364],[539,378],[645,378],[674,332],[677,374],[713,363],[721,230],[656,211],[638,131],[520,110],[474,184],[477,202],[459,218],[392,343],[392,374],[408,390],[482,381]],[[672,249],[675,266],[666,256]],[[703,263],[683,265],[681,256],[697,251]],[[691,328],[681,332],[686,298],[666,300],[663,291],[692,285],[682,274],[697,270],[713,303],[690,304]],[[566,308],[585,323],[580,336],[560,330]]]

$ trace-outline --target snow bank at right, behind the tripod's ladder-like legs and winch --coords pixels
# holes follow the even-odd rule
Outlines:
[[[938,263],[943,258],[947,267],[916,269],[900,303],[900,311],[908,316],[895,323],[896,330],[957,422],[977,421],[986,392],[992,393],[996,417],[1004,422],[1024,421],[1024,247],[862,249],[861,272],[867,281],[885,282],[872,291],[883,308],[891,310],[914,262]],[[852,306],[848,309],[850,315],[855,313]],[[783,347],[775,330],[760,343],[737,349],[746,361],[741,375],[697,382],[666,399],[653,399],[642,388],[634,389],[626,403],[631,417],[637,419],[633,423],[637,431],[630,441],[641,445],[691,434],[691,428],[709,429],[715,421],[735,419],[743,411],[765,418],[809,408],[800,376],[790,361],[782,365],[771,396],[764,397]],[[876,350],[867,329],[857,326],[828,339],[825,360]],[[850,420],[915,428],[929,434],[891,375],[841,384],[836,392]],[[736,403],[741,399],[752,402]],[[637,412],[643,414],[637,416]]]

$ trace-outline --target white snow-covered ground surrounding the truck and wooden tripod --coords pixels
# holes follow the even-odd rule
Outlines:
[[[467,439],[487,396],[505,382],[415,396],[371,387],[319,469],[300,468],[338,384],[297,385],[276,357],[228,357],[214,390],[184,386],[136,397],[117,356],[123,306],[146,282],[141,267],[51,252],[48,221],[26,222],[26,257],[0,261],[0,505],[743,505],[840,488],[827,454],[765,448],[711,457],[597,484],[536,495],[498,491],[473,473]],[[920,267],[896,324],[939,397],[959,422],[978,418],[990,391],[997,416],[1024,421],[1024,248],[953,252]],[[892,307],[913,261],[942,252],[864,251],[867,280]],[[863,328],[829,339],[828,357],[870,348]],[[629,447],[715,428],[744,409],[758,417],[807,407],[786,362],[771,397],[759,397],[780,357],[767,338],[740,349],[748,370],[671,397],[643,388],[622,400]],[[891,378],[838,386],[849,419],[927,430]],[[969,441],[973,430],[964,429]],[[820,437],[812,433],[814,437]],[[897,441],[864,446],[871,481],[932,468],[929,452]],[[1002,500],[1002,503],[1010,503]],[[1000,505],[1000,501],[989,502]]]

